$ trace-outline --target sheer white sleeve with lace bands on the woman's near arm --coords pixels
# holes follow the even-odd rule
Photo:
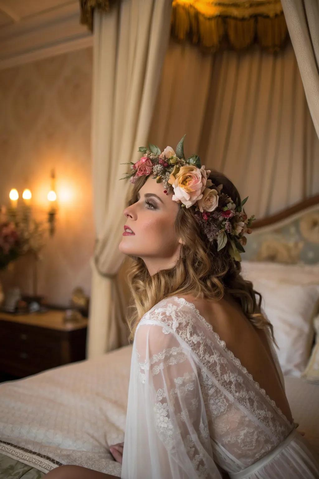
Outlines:
[[[167,325],[135,333],[121,478],[220,479],[192,350]]]

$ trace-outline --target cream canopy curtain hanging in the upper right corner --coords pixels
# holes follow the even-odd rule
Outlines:
[[[319,137],[319,0],[282,0],[282,4]]]

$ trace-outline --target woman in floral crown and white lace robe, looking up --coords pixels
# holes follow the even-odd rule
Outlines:
[[[176,153],[141,147],[127,176],[119,248],[133,259],[134,341],[124,443],[110,451],[124,479],[318,478],[272,324],[240,275],[246,198],[198,156],[186,159],[184,137]],[[76,466],[50,474],[111,477]]]

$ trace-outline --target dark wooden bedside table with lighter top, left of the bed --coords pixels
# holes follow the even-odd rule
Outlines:
[[[0,312],[0,373],[24,377],[85,359],[88,320],[64,323],[64,314]]]

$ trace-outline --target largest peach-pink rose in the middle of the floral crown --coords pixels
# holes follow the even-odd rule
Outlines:
[[[181,201],[187,208],[194,205],[203,196],[206,173],[195,165],[175,166],[168,180],[174,189],[172,200]]]

